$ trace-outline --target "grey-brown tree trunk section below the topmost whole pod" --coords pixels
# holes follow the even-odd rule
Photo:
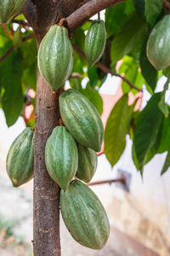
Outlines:
[[[38,74],[34,160],[34,256],[59,256],[59,186],[45,166],[45,145],[59,123],[59,94]]]

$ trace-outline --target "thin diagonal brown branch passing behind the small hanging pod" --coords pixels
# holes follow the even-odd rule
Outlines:
[[[79,55],[82,56],[82,58],[84,58],[85,60],[87,60],[87,57],[86,55],[82,52],[81,49],[79,49],[77,47],[77,45],[75,44],[72,44],[73,46],[73,49],[75,49],[77,51],[77,53]],[[109,69],[108,67],[105,67],[105,65],[103,65],[102,63],[100,62],[97,62],[94,64],[96,67],[99,67],[99,69],[101,69],[103,72],[105,73],[111,73],[112,76],[115,76],[115,77],[118,77],[120,79],[122,79],[123,81],[125,81],[131,88],[135,89],[135,90],[138,90],[138,91],[143,91],[141,89],[139,89],[137,86],[135,86],[134,84],[132,84],[129,80],[127,80],[126,78],[122,77],[122,75],[118,74],[118,73],[114,73],[111,69]]]

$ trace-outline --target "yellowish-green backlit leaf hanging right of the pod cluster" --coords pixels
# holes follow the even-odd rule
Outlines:
[[[128,96],[124,95],[111,110],[105,127],[105,155],[114,166],[126,146],[126,135],[132,119],[133,108],[127,106]]]

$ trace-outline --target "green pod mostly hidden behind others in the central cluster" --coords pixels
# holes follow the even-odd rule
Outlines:
[[[85,148],[77,144],[78,148],[78,168],[76,177],[82,179],[85,183],[94,177],[98,165],[98,157],[96,152],[91,148]]]

